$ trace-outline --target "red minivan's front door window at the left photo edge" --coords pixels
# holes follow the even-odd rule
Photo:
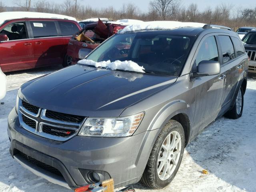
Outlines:
[[[22,40],[28,38],[25,22],[10,24],[0,31],[0,33],[6,34],[9,40]]]

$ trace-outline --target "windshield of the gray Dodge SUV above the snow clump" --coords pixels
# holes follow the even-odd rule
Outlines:
[[[159,33],[116,34],[86,59],[94,62],[132,61],[144,72],[179,76],[195,37]]]

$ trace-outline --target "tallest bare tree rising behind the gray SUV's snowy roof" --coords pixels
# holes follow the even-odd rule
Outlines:
[[[177,0],[152,0],[150,2],[150,7],[159,14],[162,20],[172,16],[172,7]]]

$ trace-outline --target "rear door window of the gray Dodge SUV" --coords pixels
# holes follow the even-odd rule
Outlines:
[[[229,36],[219,35],[220,46],[222,48],[222,58],[223,63],[229,62],[230,60],[236,58],[234,46]]]

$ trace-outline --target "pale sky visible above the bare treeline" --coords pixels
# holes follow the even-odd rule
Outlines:
[[[0,0],[1,1],[1,0]],[[32,0],[33,2],[36,2],[37,0]],[[47,1],[47,0],[46,0]],[[48,0],[49,2],[52,2],[52,0]],[[13,0],[2,0],[2,2],[6,6],[14,6]],[[63,3],[64,0],[54,0],[53,2],[56,3]],[[122,4],[124,3],[132,3],[140,7],[140,10],[147,11],[148,10],[148,4],[150,0],[78,0],[80,4],[89,4],[93,8],[102,8],[102,7],[108,7],[108,6],[114,6],[115,8],[119,9]],[[91,3],[92,2],[92,3]],[[233,4],[234,6],[240,6],[240,7],[255,7],[256,6],[256,0],[182,0],[182,5],[187,6],[190,3],[197,3],[199,10],[204,10],[205,7],[211,6],[215,7],[216,4],[221,4],[225,2],[226,4]]]

